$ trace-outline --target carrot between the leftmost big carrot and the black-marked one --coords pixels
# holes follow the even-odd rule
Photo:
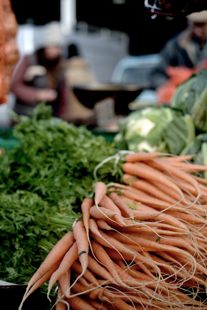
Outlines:
[[[48,289],[47,289],[47,298],[49,298],[50,291],[52,286],[55,282],[62,277],[68,269],[72,266],[74,261],[78,258],[78,247],[76,242],[71,246],[70,250],[65,254],[64,259],[62,260],[60,267],[53,273],[52,277],[50,278]]]

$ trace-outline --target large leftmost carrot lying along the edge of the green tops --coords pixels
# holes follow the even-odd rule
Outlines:
[[[67,250],[72,246],[75,241],[73,232],[67,232],[54,246],[54,248],[47,255],[43,263],[40,265],[38,270],[34,273],[32,278],[29,280],[25,295],[27,294],[30,287],[42,278],[57,262],[58,260],[67,252]],[[23,296],[23,300],[24,297]],[[21,305],[20,305],[21,309]]]

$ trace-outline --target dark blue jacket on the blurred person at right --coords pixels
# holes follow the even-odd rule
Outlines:
[[[151,73],[152,88],[161,86],[167,79],[168,66],[194,67],[207,57],[207,42],[200,50],[199,42],[188,29],[170,39],[161,50],[162,61]]]

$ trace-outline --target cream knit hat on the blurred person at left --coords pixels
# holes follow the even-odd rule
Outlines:
[[[58,21],[51,21],[45,25],[45,40],[44,46],[62,46],[63,35],[61,32],[60,23]]]

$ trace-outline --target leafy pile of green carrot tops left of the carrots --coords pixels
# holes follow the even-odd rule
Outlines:
[[[29,281],[79,216],[81,201],[94,189],[94,168],[117,152],[103,137],[51,112],[51,106],[39,104],[31,117],[13,115],[19,142],[10,152],[2,149],[0,279],[5,281]],[[113,169],[108,162],[98,177],[118,181],[121,165],[112,177]]]

